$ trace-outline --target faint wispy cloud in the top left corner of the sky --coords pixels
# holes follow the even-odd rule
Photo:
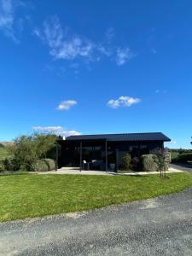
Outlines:
[[[15,11],[21,6],[24,6],[24,3],[20,0],[0,0],[0,30],[3,31],[5,36],[14,40],[15,43],[20,42],[15,34],[15,29],[20,32],[23,26],[22,19],[15,18]]]

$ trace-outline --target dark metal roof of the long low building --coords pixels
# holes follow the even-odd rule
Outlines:
[[[166,137],[162,132],[147,132],[147,133],[122,133],[122,134],[94,134],[94,135],[76,135],[66,138],[67,141],[84,141],[84,140],[101,140],[106,139],[112,142],[128,141],[162,141],[170,142],[171,139]]]

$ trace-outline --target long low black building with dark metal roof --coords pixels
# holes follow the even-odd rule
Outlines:
[[[118,168],[126,153],[131,158],[153,154],[170,141],[161,132],[70,136],[57,141],[57,163],[59,168],[79,166],[81,169],[86,162],[90,163],[90,169],[108,171],[110,164]]]

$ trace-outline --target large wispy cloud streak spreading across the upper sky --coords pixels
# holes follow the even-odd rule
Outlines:
[[[33,34],[40,38],[44,44],[49,45],[49,54],[55,59],[67,61],[101,61],[102,57],[115,60],[119,66],[130,61],[135,54],[130,48],[121,48],[112,45],[114,37],[113,28],[109,28],[104,40],[94,42],[90,38],[72,33],[67,27],[61,26],[57,16],[45,20],[41,29],[35,28]]]

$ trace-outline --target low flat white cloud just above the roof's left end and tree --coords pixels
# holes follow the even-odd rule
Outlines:
[[[51,133],[58,136],[60,135],[62,137],[80,135],[79,131],[67,130],[62,126],[34,126],[33,130],[38,132],[43,132],[43,133]]]

